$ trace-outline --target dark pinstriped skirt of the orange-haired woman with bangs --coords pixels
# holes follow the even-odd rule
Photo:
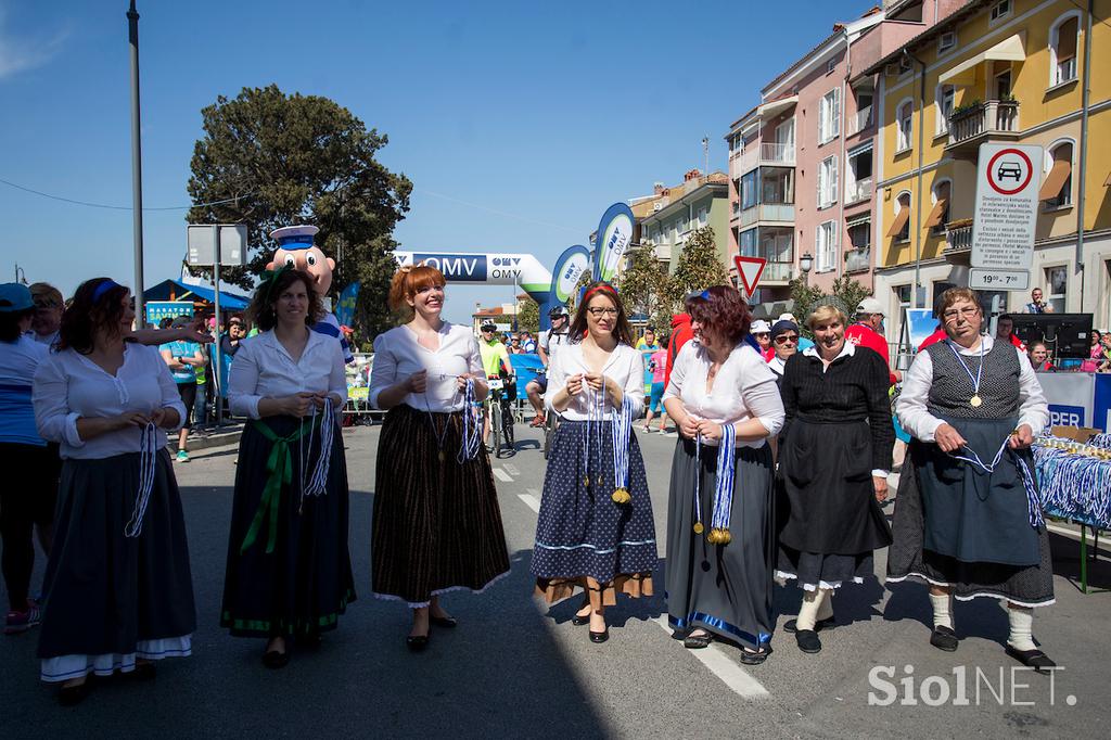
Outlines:
[[[490,457],[480,446],[476,459],[458,462],[462,427],[462,412],[401,404],[386,414],[371,530],[376,597],[422,607],[449,591],[482,591],[509,572]]]

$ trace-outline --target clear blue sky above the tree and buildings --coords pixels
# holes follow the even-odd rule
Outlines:
[[[143,199],[188,206],[200,109],[243,87],[332,98],[413,181],[403,249],[531,252],[551,267],[605,208],[724,169],[759,89],[868,2],[140,0]],[[126,0],[0,0],[0,179],[131,203]],[[510,216],[511,214],[511,216]],[[133,282],[131,213],[0,184],[3,257],[69,294]],[[184,210],[144,213],[146,282],[176,277]],[[449,290],[447,314],[511,299]]]

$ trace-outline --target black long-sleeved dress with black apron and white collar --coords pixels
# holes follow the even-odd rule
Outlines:
[[[817,348],[787,360],[781,387],[777,577],[805,591],[863,582],[891,544],[873,476],[891,469],[888,366],[845,341],[823,370]]]

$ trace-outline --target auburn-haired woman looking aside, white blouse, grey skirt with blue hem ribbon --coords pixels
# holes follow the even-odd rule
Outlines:
[[[680,439],[671,464],[668,621],[687,648],[724,638],[741,661],[770,652],[773,533],[772,453],[783,426],[774,373],[747,342],[751,314],[735,288],[687,301],[698,341],[675,358],[663,406]],[[733,441],[733,449],[720,446]],[[730,480],[731,477],[731,480]]]

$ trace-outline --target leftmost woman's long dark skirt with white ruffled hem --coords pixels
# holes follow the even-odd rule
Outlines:
[[[187,656],[197,629],[178,482],[166,450],[138,537],[124,537],[140,456],[66,460],[39,634],[43,680],[130,670],[134,658]]]

